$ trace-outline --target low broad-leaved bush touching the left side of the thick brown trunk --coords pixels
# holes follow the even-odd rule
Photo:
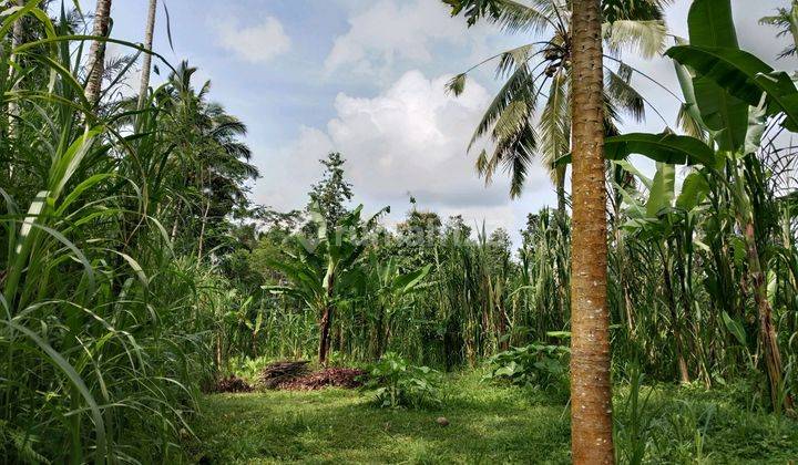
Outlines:
[[[490,358],[490,373],[484,379],[567,392],[570,353],[564,345],[533,343],[513,348]]]

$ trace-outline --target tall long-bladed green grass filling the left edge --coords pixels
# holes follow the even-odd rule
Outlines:
[[[90,38],[37,4],[0,16],[0,38],[20,18],[33,37],[13,50],[3,41],[0,54],[1,455],[170,461],[211,374],[218,290],[163,227],[170,194],[151,168],[168,167],[168,149],[152,144],[155,111],[91,107]]]

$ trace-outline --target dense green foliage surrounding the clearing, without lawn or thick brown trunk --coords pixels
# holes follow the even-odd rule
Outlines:
[[[544,34],[495,56],[508,81],[474,138],[494,144],[478,157],[480,173],[507,167],[513,194],[533,158],[556,185],[557,208],[530,214],[514,247],[504,229],[441,218],[412,197],[397,225],[385,220],[389,207],[365,215],[352,205],[346,154],[321,161],[321,179],[297,200],[303,211],[250,205],[246,185],[258,173],[246,126],[209,99],[209,82],[141,45],[83,35],[80,11],[41,3],[0,1],[6,462],[184,458],[201,389],[238,381],[226,378],[233,372],[252,382],[275,359],[374,363],[368,388],[391,407],[442,405],[447,389],[426,366],[483,363],[490,389],[509,381],[567,399],[566,4],[447,1],[468,23]],[[739,49],[728,1],[696,0],[689,44],[665,52],[682,85],[672,115],[681,127],[620,134],[622,114],[641,120],[651,105],[621,51],[663,51],[667,3],[602,3],[614,66],[605,83],[612,370],[626,394],[616,403],[618,456],[632,463],[652,451],[700,456],[683,448],[700,447],[710,424],[745,415],[775,413],[757,420],[781,434],[777,415],[794,413],[798,394],[797,158],[785,136],[798,132],[798,89]],[[792,34],[795,11],[764,21]],[[86,96],[94,70],[84,55],[95,41],[130,53],[104,58],[96,101]],[[123,82],[143,54],[165,73],[130,95]],[[454,93],[463,85],[466,74],[450,83]],[[633,154],[656,162],[653,176]],[[682,405],[661,393],[653,402],[684,414],[657,413],[667,418],[656,423],[643,373],[699,397],[743,392],[748,410],[726,406],[713,423],[708,401]],[[553,427],[566,442],[567,425]]]

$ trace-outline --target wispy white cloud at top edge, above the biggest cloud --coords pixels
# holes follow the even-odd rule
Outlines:
[[[372,73],[374,63],[390,66],[397,59],[432,60],[433,41],[468,40],[462,21],[449,18],[446,6],[430,0],[380,0],[349,19],[349,31],[335,40],[325,61],[330,73],[341,66]],[[473,35],[473,34],[472,34]]]

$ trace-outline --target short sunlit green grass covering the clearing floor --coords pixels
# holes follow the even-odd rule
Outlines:
[[[554,397],[451,375],[437,411],[380,410],[342,390],[204,397],[195,425],[201,463],[569,463],[567,406]],[[623,391],[623,390],[620,390]],[[620,448],[632,418],[616,400]],[[745,407],[745,394],[662,388],[638,415],[646,462],[798,459],[798,423]],[[449,426],[436,418],[446,416]]]

